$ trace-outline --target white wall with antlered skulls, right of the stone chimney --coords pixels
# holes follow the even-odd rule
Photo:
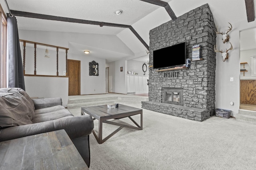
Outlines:
[[[221,54],[216,53],[215,106],[216,108],[232,110],[231,115],[235,117],[240,107],[240,31],[243,29],[255,27],[255,21],[248,23],[245,18],[245,20],[242,22],[231,24],[233,29],[229,32],[229,35],[233,49],[228,51],[229,58],[223,62]],[[223,25],[216,26],[218,26],[218,31],[228,29],[226,25],[224,27]],[[225,50],[226,48],[229,48],[227,47],[228,44],[222,43],[222,39],[219,36],[220,35],[218,34],[218,49]],[[230,81],[230,77],[233,77],[234,81]],[[234,102],[234,106],[231,106],[230,102]]]

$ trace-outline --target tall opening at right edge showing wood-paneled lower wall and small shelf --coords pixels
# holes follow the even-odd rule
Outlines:
[[[240,109],[256,111],[256,27],[240,31]]]

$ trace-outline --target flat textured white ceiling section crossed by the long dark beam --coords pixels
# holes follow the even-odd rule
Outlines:
[[[162,8],[140,0],[8,0],[7,2],[10,10],[125,25],[132,25],[154,10]],[[165,2],[170,2],[170,0],[165,0]],[[123,10],[121,15],[114,14],[116,10],[120,9]],[[19,29],[56,31],[56,27],[62,27],[62,29],[60,29],[61,31],[97,34],[107,33],[112,35],[116,35],[123,30],[120,28],[113,29],[113,27],[102,29],[98,26],[98,29],[95,29],[93,25],[83,24],[74,25],[74,29],[72,24],[67,23],[63,23],[63,25],[68,25],[68,27],[64,28],[60,23],[56,23],[56,25],[60,24],[60,26],[55,26],[54,24],[54,27],[48,27],[47,24],[42,24],[42,22],[47,22],[46,20],[40,20],[40,24],[38,24],[38,19],[19,18],[18,21],[19,20]],[[84,29],[84,27],[86,27],[86,29]],[[109,31],[109,29],[111,31]]]

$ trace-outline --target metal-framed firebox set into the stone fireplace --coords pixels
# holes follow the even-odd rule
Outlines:
[[[162,102],[183,106],[183,88],[163,88]]]

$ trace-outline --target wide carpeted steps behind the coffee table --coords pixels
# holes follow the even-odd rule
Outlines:
[[[86,106],[97,106],[104,104],[122,103],[122,102],[140,102],[148,101],[146,96],[136,96],[132,94],[93,94],[82,96],[69,96],[68,109],[75,109]]]

